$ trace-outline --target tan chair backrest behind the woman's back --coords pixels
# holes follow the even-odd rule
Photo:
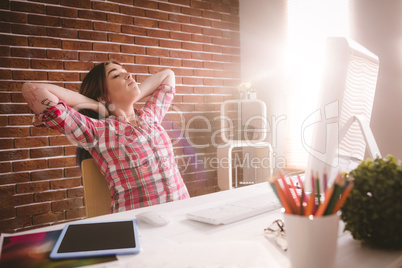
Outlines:
[[[109,187],[95,161],[92,158],[83,160],[81,170],[87,217],[109,214],[112,201]]]

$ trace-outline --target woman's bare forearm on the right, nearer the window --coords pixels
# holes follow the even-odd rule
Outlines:
[[[175,86],[175,75],[172,70],[165,69],[148,77],[145,81],[143,81],[139,85],[139,88],[141,90],[139,99],[151,95],[161,84],[167,84],[172,87]]]

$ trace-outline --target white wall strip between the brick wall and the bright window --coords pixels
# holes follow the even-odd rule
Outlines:
[[[270,123],[267,140],[274,141],[272,145],[278,162],[284,157],[283,137],[287,132],[283,3],[282,0],[240,0],[242,81],[251,80],[257,89],[257,97],[267,105]]]

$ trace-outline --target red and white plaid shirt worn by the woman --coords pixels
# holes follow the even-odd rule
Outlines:
[[[125,211],[189,197],[161,126],[174,93],[174,87],[161,85],[142,109],[135,109],[137,126],[116,116],[86,117],[63,101],[40,118],[91,153],[108,181],[111,212]]]

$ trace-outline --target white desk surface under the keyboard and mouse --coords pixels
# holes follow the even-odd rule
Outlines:
[[[170,224],[163,227],[152,227],[139,222],[141,253],[118,256],[119,263],[103,264],[100,267],[290,267],[286,253],[264,236],[264,228],[274,220],[282,218],[280,210],[221,226],[199,223],[185,217],[185,214],[192,210],[247,198],[270,190],[267,183],[260,183],[87,219],[131,219],[145,211],[163,212],[173,218]],[[24,233],[61,228],[62,225],[56,225]],[[402,267],[401,250],[384,251],[368,248],[353,240],[348,232],[342,232],[342,229],[341,222],[335,267]]]

